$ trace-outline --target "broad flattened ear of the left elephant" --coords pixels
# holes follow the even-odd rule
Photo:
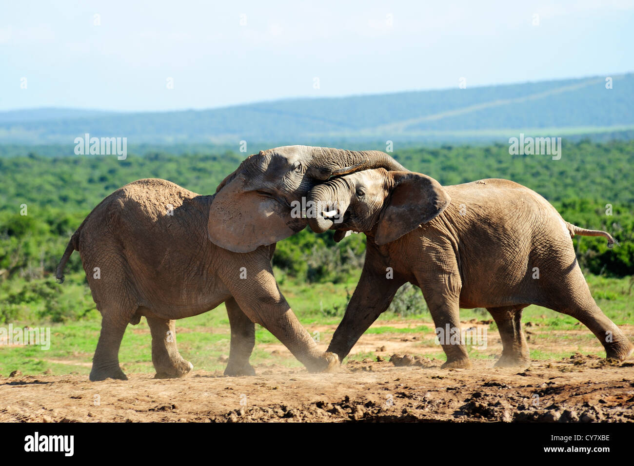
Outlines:
[[[233,252],[250,252],[276,243],[306,227],[306,219],[259,191],[247,190],[244,174],[235,174],[216,193],[209,209],[209,240]]]

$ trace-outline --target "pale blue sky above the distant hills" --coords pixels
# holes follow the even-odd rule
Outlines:
[[[5,1],[0,110],[211,108],[460,77],[473,87],[607,76],[634,70],[633,44],[634,0]]]

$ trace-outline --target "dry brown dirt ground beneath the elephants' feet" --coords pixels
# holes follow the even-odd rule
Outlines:
[[[576,353],[596,351],[596,341],[534,333],[531,349],[553,351],[554,339],[557,350],[566,351],[571,340],[573,356],[494,368],[501,345],[491,332],[491,359],[474,358],[471,369],[443,370],[443,361],[428,357],[439,348],[422,345],[423,337],[363,335],[354,351],[373,358],[347,361],[326,374],[271,363],[256,366],[254,377],[202,370],[172,380],[152,374],[104,382],[89,382],[86,375],[3,377],[0,422],[634,422],[634,360]],[[281,345],[266,349],[290,357]],[[414,356],[390,361],[391,354]]]

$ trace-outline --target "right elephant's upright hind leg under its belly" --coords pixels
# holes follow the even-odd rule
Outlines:
[[[522,332],[523,306],[489,307],[487,310],[498,325],[502,340],[502,355],[495,363],[496,367],[531,365],[531,357]]]

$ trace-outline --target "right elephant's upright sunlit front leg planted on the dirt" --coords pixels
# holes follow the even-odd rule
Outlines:
[[[447,355],[447,361],[442,368],[470,368],[469,355],[461,338],[460,290],[451,290],[451,287],[443,286],[424,287],[423,295],[436,325],[436,332],[441,339],[444,354]]]

